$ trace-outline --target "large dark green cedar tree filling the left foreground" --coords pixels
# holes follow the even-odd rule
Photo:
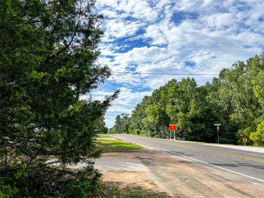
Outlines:
[[[89,197],[95,190],[95,122],[118,91],[104,101],[80,99],[111,75],[96,64],[102,15],[94,6],[94,0],[0,3],[0,182],[18,197]],[[78,162],[88,166],[66,167]]]

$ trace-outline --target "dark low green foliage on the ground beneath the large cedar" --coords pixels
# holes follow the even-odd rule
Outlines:
[[[80,169],[61,166],[36,168],[29,175],[9,178],[6,185],[16,184],[14,197],[92,197],[101,174],[92,165]],[[12,197],[12,196],[11,196]]]

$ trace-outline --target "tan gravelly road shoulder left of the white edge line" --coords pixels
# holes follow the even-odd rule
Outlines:
[[[116,138],[123,141],[126,139],[120,136]],[[108,163],[107,159],[115,159],[122,163],[126,159],[127,164],[135,164],[134,168],[141,164],[145,169],[139,167],[138,170],[145,172],[148,180],[155,181],[174,197],[259,198],[262,197],[264,190],[261,182],[245,180],[243,176],[154,148],[126,153],[105,153],[102,159],[106,160],[105,164]],[[134,162],[131,162],[133,160]],[[129,167],[126,171],[128,169]]]

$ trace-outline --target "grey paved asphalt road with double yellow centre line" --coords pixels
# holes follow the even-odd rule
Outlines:
[[[218,167],[219,170],[225,169],[233,171],[234,174],[243,174],[245,175],[245,180],[251,178],[261,183],[264,182],[263,153],[128,134],[119,134],[118,136],[149,147],[166,150],[171,154],[183,155],[191,158],[194,162],[208,163],[216,166],[216,168]]]

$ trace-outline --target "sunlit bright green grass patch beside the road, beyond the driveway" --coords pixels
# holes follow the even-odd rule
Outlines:
[[[126,150],[143,149],[142,146],[119,140],[98,139],[95,141],[95,143],[98,148],[103,150],[103,152],[123,152]]]

